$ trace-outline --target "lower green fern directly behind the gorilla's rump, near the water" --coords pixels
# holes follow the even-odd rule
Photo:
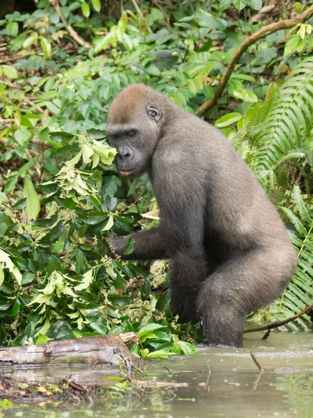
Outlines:
[[[298,267],[280,300],[275,300],[269,308],[275,318],[288,318],[313,303],[313,219],[298,186],[294,186],[293,199],[298,214],[289,208],[282,208],[282,211],[294,226],[290,236],[298,251]],[[310,316],[304,315],[286,326],[306,330],[309,320]]]

